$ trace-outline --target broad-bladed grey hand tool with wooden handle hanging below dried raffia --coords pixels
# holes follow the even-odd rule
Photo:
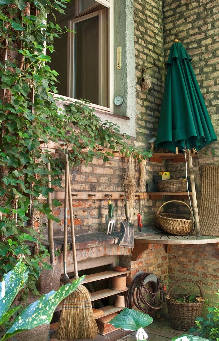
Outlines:
[[[129,203],[125,201],[126,221],[120,223],[120,235],[118,245],[125,248],[134,248],[134,224],[130,223]]]

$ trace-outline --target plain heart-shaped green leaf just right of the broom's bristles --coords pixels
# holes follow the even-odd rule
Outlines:
[[[116,328],[127,330],[138,330],[151,324],[153,318],[134,309],[124,308],[121,313],[116,315],[110,322]]]

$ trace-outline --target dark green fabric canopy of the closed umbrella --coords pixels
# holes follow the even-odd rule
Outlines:
[[[191,57],[180,42],[173,43],[168,58],[156,147],[200,150],[217,140]]]

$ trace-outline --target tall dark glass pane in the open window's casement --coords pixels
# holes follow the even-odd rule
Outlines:
[[[98,104],[98,16],[75,25],[75,95]]]

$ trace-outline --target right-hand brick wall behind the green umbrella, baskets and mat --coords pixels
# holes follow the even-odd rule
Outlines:
[[[192,66],[203,94],[216,135],[219,133],[219,6],[218,2],[205,0],[165,0],[163,4],[164,48],[167,60],[174,39],[179,39],[192,58]],[[219,142],[199,152],[201,167],[218,164]],[[195,182],[198,186],[198,202],[201,198],[201,179],[197,160],[193,161]],[[170,172],[184,174],[184,164],[167,162]],[[219,287],[219,254],[212,244],[174,246],[169,254],[169,286],[179,279],[197,281],[208,298],[208,305],[216,302],[214,292]]]

